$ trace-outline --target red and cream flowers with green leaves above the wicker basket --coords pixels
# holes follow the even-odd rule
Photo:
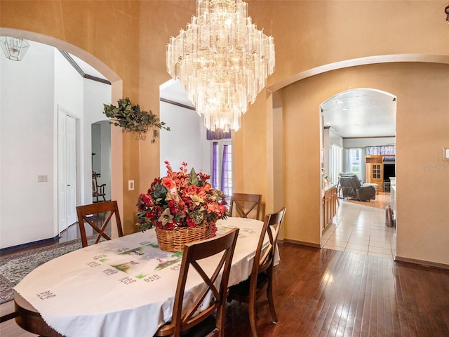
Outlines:
[[[138,225],[145,231],[152,227],[173,229],[207,224],[211,237],[217,232],[217,219],[229,216],[225,194],[212,188],[207,182],[210,176],[187,173],[183,162],[179,172],[173,172],[170,163],[164,161],[167,176],[154,179],[148,192],[138,200]]]

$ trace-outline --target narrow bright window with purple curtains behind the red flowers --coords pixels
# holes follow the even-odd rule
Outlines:
[[[232,195],[232,145],[230,140],[217,140],[212,143],[213,188],[222,190],[229,202]]]

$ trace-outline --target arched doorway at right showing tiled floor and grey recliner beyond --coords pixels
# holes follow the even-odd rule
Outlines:
[[[385,227],[383,214],[385,206],[395,201],[390,178],[396,177],[396,96],[354,88],[325,100],[320,111],[325,193],[321,246],[393,258],[395,232]],[[340,180],[343,175],[354,178],[351,181],[361,185],[366,197],[347,190]],[[331,197],[334,191],[336,196]]]

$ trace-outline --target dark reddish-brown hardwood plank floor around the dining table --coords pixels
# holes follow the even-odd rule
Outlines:
[[[279,322],[271,322],[261,299],[260,337],[449,336],[449,270],[294,244],[279,245],[279,253]],[[228,303],[226,322],[225,336],[250,336],[246,305]],[[1,324],[0,336],[36,335],[10,320]]]

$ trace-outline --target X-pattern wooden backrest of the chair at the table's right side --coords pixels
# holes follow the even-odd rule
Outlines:
[[[250,286],[256,286],[257,274],[264,272],[269,267],[273,267],[274,253],[277,249],[279,230],[281,230],[283,216],[285,214],[286,207],[283,207],[280,211],[267,214],[264,218],[264,225],[262,226],[262,232],[260,233],[259,242],[257,243],[257,250],[255,251]],[[264,244],[264,239],[266,236],[268,236],[269,242]]]

